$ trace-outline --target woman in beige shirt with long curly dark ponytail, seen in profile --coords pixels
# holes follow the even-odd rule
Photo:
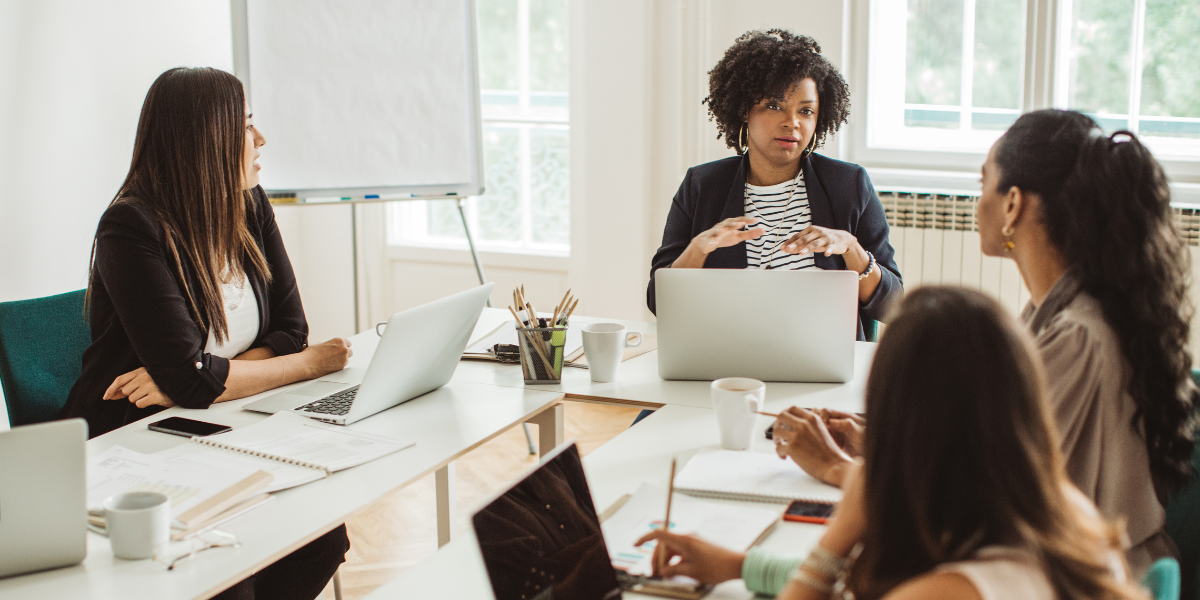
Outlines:
[[[1196,390],[1189,254],[1166,178],[1127,131],[1069,110],[1022,115],[983,166],[979,233],[1016,263],[1049,373],[1067,473],[1123,518],[1134,572],[1175,553],[1164,504],[1192,476]]]

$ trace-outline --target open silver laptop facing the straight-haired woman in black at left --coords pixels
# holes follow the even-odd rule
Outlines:
[[[397,312],[366,371],[347,368],[242,407],[349,425],[450,382],[493,283]]]

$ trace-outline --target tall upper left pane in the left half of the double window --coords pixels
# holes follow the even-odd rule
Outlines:
[[[962,0],[908,0],[906,37],[905,102],[960,104]]]

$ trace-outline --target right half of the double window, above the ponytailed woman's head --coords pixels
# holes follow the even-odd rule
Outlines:
[[[1164,157],[1200,157],[1200,4],[1060,0],[1055,103],[1129,130]]]

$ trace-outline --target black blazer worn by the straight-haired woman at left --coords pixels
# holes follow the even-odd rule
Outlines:
[[[272,276],[268,287],[247,269],[259,317],[252,348],[268,347],[280,356],[294,354],[308,346],[308,322],[275,211],[262,187],[252,196],[254,210],[247,214],[247,224]],[[198,289],[187,254],[180,252],[180,259],[188,288]],[[86,419],[89,436],[163,409],[137,408],[128,400],[101,400],[113,379],[139,367],[184,408],[208,408],[224,392],[229,360],[204,353],[208,331],[192,320],[162,224],[137,199],[116,203],[100,217],[89,322],[91,346],[83,354],[83,373],[61,413],[64,419]]]

